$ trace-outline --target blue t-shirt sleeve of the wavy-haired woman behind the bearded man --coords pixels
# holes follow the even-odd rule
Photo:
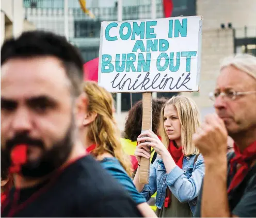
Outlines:
[[[143,197],[136,189],[132,179],[125,172],[122,165],[116,158],[104,158],[101,161],[101,165],[107,172],[116,178],[121,185],[129,192],[134,202],[138,205],[146,202],[145,197]]]

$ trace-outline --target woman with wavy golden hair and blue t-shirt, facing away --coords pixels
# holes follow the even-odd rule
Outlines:
[[[91,81],[85,82],[84,94],[88,108],[83,121],[78,123],[81,124],[79,133],[87,152],[100,161],[102,167],[127,190],[144,217],[156,217],[130,178],[131,161],[122,150],[120,134],[113,116],[111,94]],[[118,205],[112,207],[115,210]]]

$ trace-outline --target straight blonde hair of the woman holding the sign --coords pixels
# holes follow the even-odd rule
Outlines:
[[[169,105],[173,105],[178,112],[178,118],[181,123],[181,143],[184,156],[198,155],[199,149],[192,143],[192,136],[200,126],[200,113],[196,103],[188,97],[173,96],[162,108],[159,127],[162,142],[166,147],[169,146],[170,140],[164,127],[164,110]]]

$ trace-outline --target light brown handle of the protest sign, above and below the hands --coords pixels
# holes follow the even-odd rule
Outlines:
[[[142,127],[141,131],[152,129],[152,92],[142,93]],[[150,159],[141,157],[139,183],[149,183]]]

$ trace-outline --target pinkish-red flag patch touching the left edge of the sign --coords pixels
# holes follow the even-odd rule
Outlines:
[[[84,64],[84,80],[98,82],[99,58],[94,58]]]

